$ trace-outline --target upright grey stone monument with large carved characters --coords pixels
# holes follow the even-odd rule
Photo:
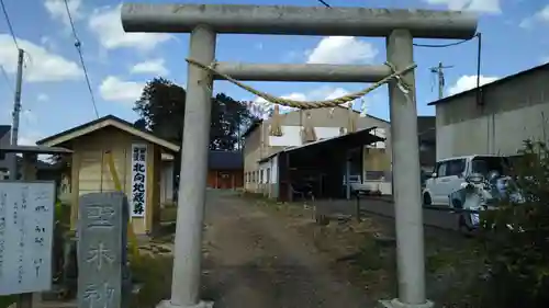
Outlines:
[[[78,217],[78,308],[127,307],[126,196],[83,195]]]

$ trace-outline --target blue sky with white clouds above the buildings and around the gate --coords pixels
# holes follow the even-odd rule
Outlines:
[[[24,4],[23,4],[24,2]],[[143,1],[142,1],[143,2]],[[164,2],[147,0],[146,2]],[[316,0],[208,0],[181,3],[321,5]],[[484,82],[549,61],[549,4],[544,0],[328,0],[333,7],[466,9],[480,14],[483,34],[482,73]],[[33,144],[96,115],[79,65],[78,54],[63,0],[4,0],[19,44],[26,49],[20,142]],[[92,90],[101,115],[114,114],[134,121],[132,111],[143,84],[160,75],[186,85],[187,34],[124,34],[120,24],[120,1],[69,0]],[[9,81],[0,76],[0,124],[11,124],[16,48],[8,25],[0,18],[0,65]],[[450,41],[416,39],[445,44]],[[446,94],[474,85],[477,43],[449,48],[414,49],[419,114],[434,114],[427,103],[437,96],[429,67],[442,61]],[[265,35],[220,35],[219,60],[247,62],[336,62],[382,64],[384,39],[357,37],[302,37]],[[365,88],[355,83],[253,82],[262,91],[295,99],[325,99]],[[236,100],[254,101],[254,95],[219,81],[215,92]],[[389,117],[386,88],[366,98],[368,113]]]

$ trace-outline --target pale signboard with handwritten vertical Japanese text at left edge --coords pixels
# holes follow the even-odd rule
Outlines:
[[[0,182],[0,295],[49,290],[54,182]]]

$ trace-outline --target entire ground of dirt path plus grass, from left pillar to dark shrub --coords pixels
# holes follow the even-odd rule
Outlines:
[[[300,204],[209,194],[204,298],[221,308],[374,307],[396,297],[394,220],[315,224]],[[427,298],[468,307],[470,239],[425,228]]]

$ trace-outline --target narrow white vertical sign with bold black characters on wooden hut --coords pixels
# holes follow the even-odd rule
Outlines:
[[[132,217],[144,217],[147,202],[147,145],[132,145]]]

